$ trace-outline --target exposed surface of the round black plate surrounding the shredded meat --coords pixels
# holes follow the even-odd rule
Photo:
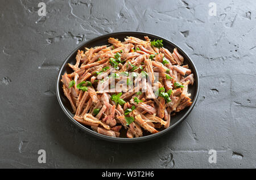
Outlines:
[[[67,73],[71,72],[71,68],[69,68],[67,66],[67,63],[75,64],[77,50],[84,50],[85,47],[91,48],[91,47],[94,47],[94,46],[108,45],[109,44],[108,43],[108,38],[109,37],[118,38],[120,41],[123,41],[126,36],[134,36],[134,37],[138,37],[138,38],[141,38],[141,39],[144,39],[144,36],[148,36],[151,40],[154,40],[154,39],[160,39],[161,40],[162,39],[164,48],[167,48],[168,50],[170,50],[170,52],[172,52],[172,50],[174,48],[177,48],[179,53],[181,55],[183,55],[183,57],[184,57],[184,64],[185,65],[188,64],[189,68],[192,70],[192,73],[194,74],[194,77],[195,77],[195,83],[192,86],[190,85],[189,89],[188,89],[189,93],[191,93],[191,100],[192,100],[193,104],[190,107],[185,108],[181,112],[176,113],[176,115],[172,116],[170,127],[166,128],[165,130],[160,131],[156,134],[151,134],[151,135],[148,135],[148,136],[143,136],[143,137],[140,137],[140,138],[133,138],[133,139],[112,138],[112,137],[109,137],[109,136],[98,134],[97,132],[94,132],[93,130],[90,130],[90,128],[88,128],[84,125],[81,125],[79,122],[77,122],[75,119],[73,119],[74,114],[71,112],[71,110],[72,110],[71,105],[69,104],[69,101],[67,100],[67,98],[64,96],[63,89],[62,89],[62,83],[60,81],[61,75],[63,75],[65,72],[67,72]],[[166,134],[166,132],[170,131],[178,123],[183,121],[183,119],[185,117],[187,117],[187,115],[191,112],[191,110],[193,109],[193,106],[196,103],[198,94],[199,94],[199,76],[197,74],[196,67],[193,64],[191,58],[189,58],[188,55],[181,48],[179,48],[179,46],[177,46],[173,42],[168,41],[167,39],[165,39],[163,37],[152,35],[152,34],[149,34],[149,33],[144,33],[144,32],[116,32],[116,33],[111,33],[111,34],[108,34],[108,35],[96,37],[93,40],[85,42],[84,44],[80,45],[78,48],[73,50],[73,52],[68,55],[67,59],[65,59],[63,65],[60,68],[59,75],[57,77],[57,82],[56,82],[57,99],[58,99],[58,101],[60,103],[60,106],[63,109],[64,113],[67,115],[67,117],[69,119],[71,119],[71,121],[73,123],[75,123],[77,126],[79,126],[80,128],[82,128],[83,130],[85,130],[86,132],[88,132],[89,134],[91,134],[93,136],[96,136],[96,137],[104,139],[104,140],[109,140],[109,141],[112,141],[112,142],[123,142],[123,143],[142,142],[142,141],[150,140],[150,139],[159,137],[163,134]]]

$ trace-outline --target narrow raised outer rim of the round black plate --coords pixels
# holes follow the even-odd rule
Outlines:
[[[86,46],[86,44],[89,44],[90,42],[93,41],[97,41],[100,38],[104,38],[104,37],[108,37],[108,36],[112,36],[112,35],[122,35],[125,33],[134,33],[134,34],[139,34],[139,35],[144,35],[144,36],[154,36],[156,38],[159,39],[163,39],[164,41],[167,41],[169,44],[172,44],[173,46],[175,46],[177,49],[181,50],[187,57],[188,57],[188,61],[191,62],[195,72],[194,74],[196,74],[195,76],[195,81],[196,81],[196,94],[195,94],[195,100],[192,102],[192,105],[189,107],[189,109],[187,110],[187,112],[179,119],[177,120],[176,123],[174,123],[174,125],[159,131],[156,134],[151,134],[151,135],[147,135],[147,136],[142,136],[139,138],[113,138],[110,136],[106,136],[106,135],[102,135],[99,134],[93,130],[90,130],[88,127],[85,127],[84,125],[81,125],[79,122],[77,122],[67,111],[67,108],[65,108],[63,102],[61,101],[61,97],[60,97],[60,91],[59,91],[59,84],[60,84],[60,77],[61,77],[61,71],[63,71],[63,68],[67,65],[67,61],[71,58],[71,56],[77,52],[77,50],[81,49],[83,46]],[[176,127],[179,123],[181,123],[187,116],[189,113],[191,113],[192,109],[194,108],[197,98],[199,96],[199,91],[200,91],[200,82],[199,82],[199,74],[197,71],[197,68],[195,66],[195,63],[193,63],[192,59],[189,57],[189,55],[187,53],[185,53],[185,51],[183,49],[180,48],[180,46],[176,45],[174,42],[168,40],[167,38],[158,36],[158,35],[154,35],[152,33],[147,33],[147,32],[141,32],[141,31],[120,31],[120,32],[114,32],[114,33],[108,33],[102,36],[97,36],[95,38],[92,38],[91,40],[85,41],[84,43],[82,43],[80,46],[76,47],[74,50],[72,50],[72,52],[67,56],[67,58],[65,58],[63,65],[61,65],[58,75],[57,75],[57,80],[56,80],[56,96],[57,96],[57,100],[61,106],[61,109],[63,110],[63,112],[65,113],[65,115],[67,115],[67,117],[73,122],[75,123],[75,125],[77,125],[78,127],[80,127],[82,130],[85,130],[85,132],[87,132],[90,135],[93,135],[94,137],[100,138],[100,139],[104,139],[104,140],[108,140],[110,142],[118,142],[118,143],[135,143],[135,142],[143,142],[146,140],[151,140],[154,138],[159,138],[160,136],[166,134],[167,132],[170,132],[172,130],[172,128]]]

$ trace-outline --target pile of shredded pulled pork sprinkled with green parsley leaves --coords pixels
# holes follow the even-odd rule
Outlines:
[[[68,64],[73,72],[61,79],[76,121],[103,135],[120,137],[122,129],[138,138],[168,128],[171,115],[191,106],[194,78],[184,58],[162,40],[144,38],[109,38],[112,46],[78,50],[75,65]]]

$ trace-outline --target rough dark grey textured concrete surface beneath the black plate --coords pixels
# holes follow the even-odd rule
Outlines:
[[[42,0],[40,0],[42,1]],[[0,2],[0,168],[256,168],[256,2]],[[213,0],[212,0],[213,1]],[[200,74],[192,113],[141,144],[85,134],[60,109],[57,72],[79,44],[106,33],[144,31],[175,42]],[[46,164],[38,163],[45,149]],[[217,151],[209,164],[208,151]]]

